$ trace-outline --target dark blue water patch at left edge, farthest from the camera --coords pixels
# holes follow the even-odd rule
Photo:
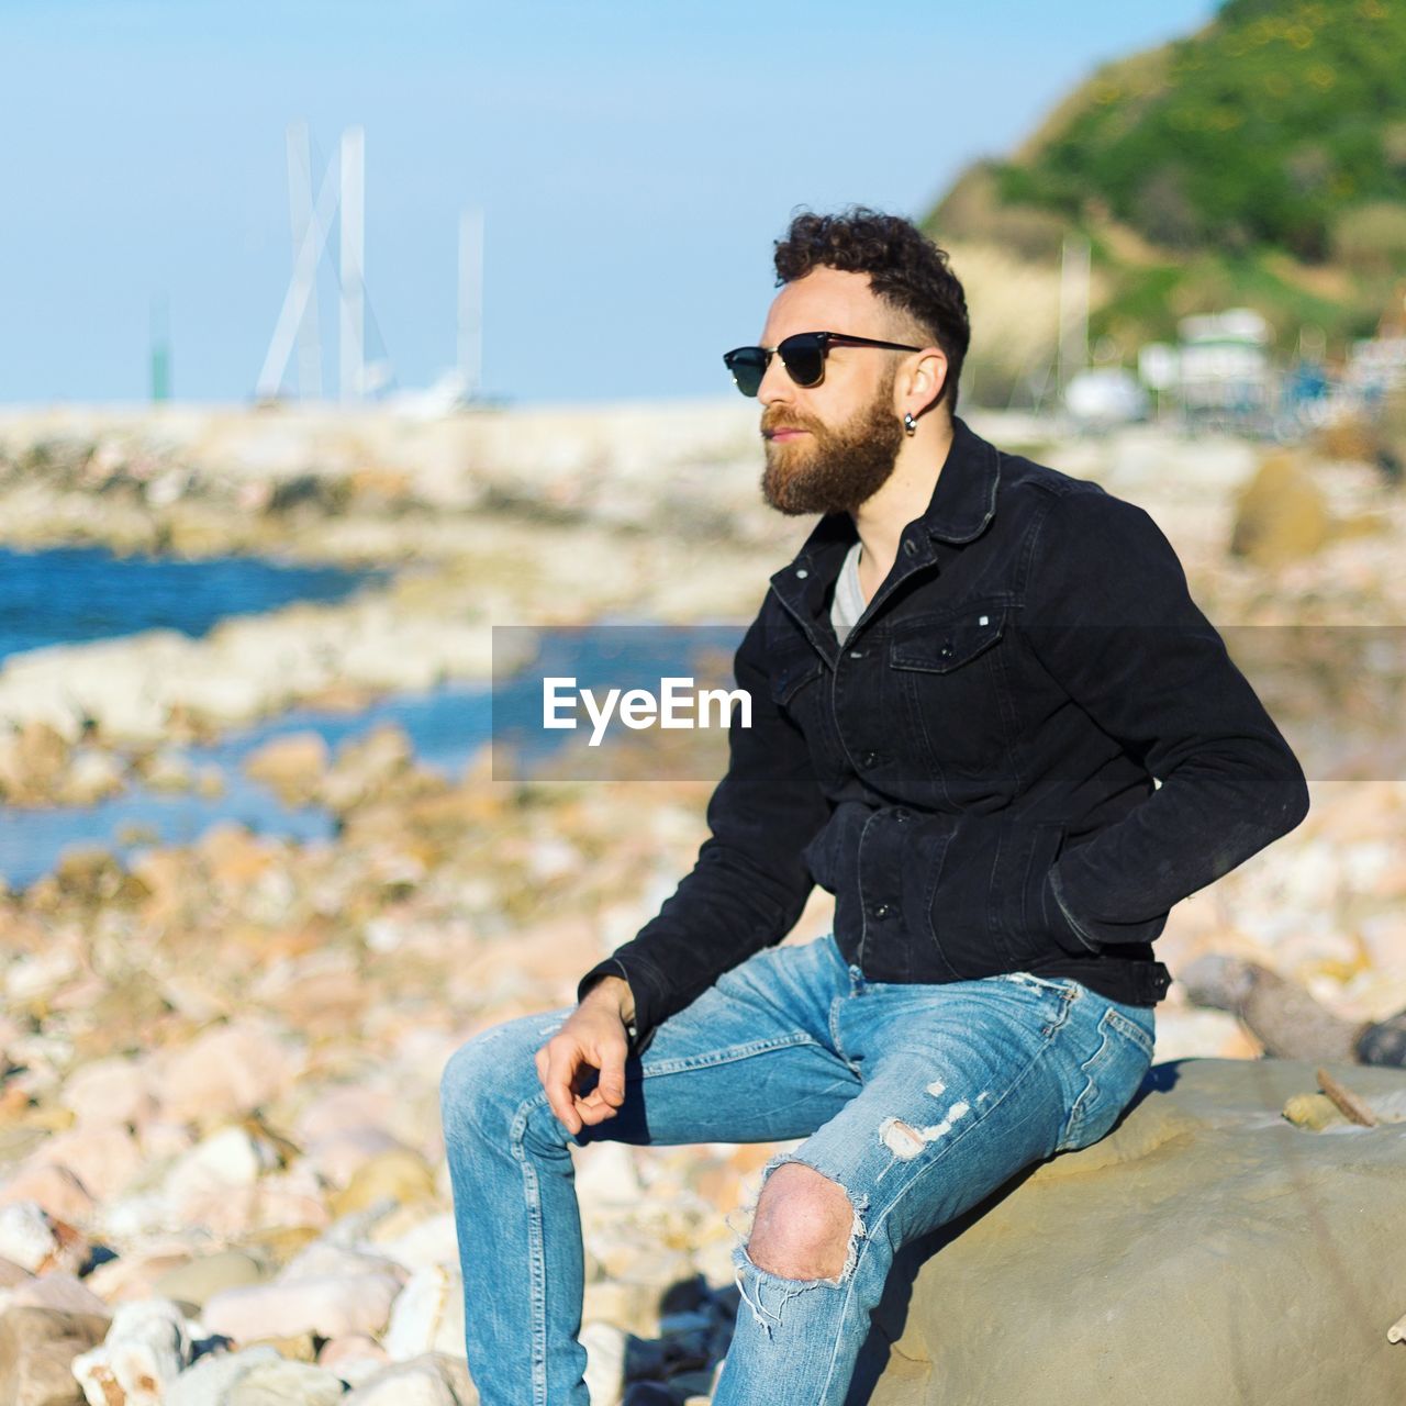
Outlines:
[[[0,659],[139,630],[201,636],[231,614],[342,600],[382,572],[215,557],[114,557],[104,547],[0,548]]]

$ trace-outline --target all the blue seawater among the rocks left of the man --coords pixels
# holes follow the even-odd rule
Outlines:
[[[156,627],[198,636],[229,614],[270,610],[292,600],[342,599],[373,575],[253,558],[184,562],[117,558],[98,548],[0,550],[0,658],[39,645]],[[218,821],[301,841],[329,838],[335,820],[328,811],[285,806],[243,775],[250,752],[287,733],[319,733],[335,751],[380,723],[395,723],[409,735],[416,759],[449,778],[461,773],[492,737],[513,749],[516,765],[510,775],[530,775],[558,748],[579,748],[586,735],[541,733],[543,675],[574,675],[582,688],[595,689],[648,686],[668,673],[693,672],[702,678],[716,673],[718,657],[730,659],[741,630],[609,626],[534,631],[536,661],[516,676],[505,668],[495,671],[496,696],[488,685],[456,683],[396,695],[357,713],[299,709],[229,733],[218,744],[187,748],[184,755],[195,773],[207,766],[221,772],[224,792],[215,797],[131,786],[96,806],[0,806],[0,877],[13,887],[25,887],[51,870],[66,848],[103,845],[131,858],[153,842],[190,844]],[[596,755],[591,754],[591,759]]]

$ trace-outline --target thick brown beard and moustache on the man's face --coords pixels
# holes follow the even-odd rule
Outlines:
[[[790,444],[766,441],[762,496],[790,517],[856,512],[887,482],[903,444],[903,423],[893,413],[893,378],[838,429],[796,411],[762,418],[763,430],[783,425],[806,430],[807,437]]]

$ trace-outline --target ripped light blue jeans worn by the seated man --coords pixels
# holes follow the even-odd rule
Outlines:
[[[734,1250],[744,1303],[714,1406],[841,1406],[894,1253],[1021,1168],[1102,1137],[1152,1062],[1153,1012],[1025,973],[868,981],[832,938],[768,948],[626,1064],[614,1118],[572,1137],[533,1054],[569,1010],[498,1025],[441,1083],[482,1406],[588,1406],[569,1144],[804,1137],[853,1209],[844,1270],[787,1279]]]

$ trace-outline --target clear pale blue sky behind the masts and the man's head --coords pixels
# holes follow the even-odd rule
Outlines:
[[[456,354],[486,221],[485,389],[727,391],[797,205],[920,215],[1098,63],[1206,0],[0,0],[0,402],[253,391],[291,271],[284,131],[366,129],[367,287],[402,387]],[[335,307],[323,287],[325,374]]]

